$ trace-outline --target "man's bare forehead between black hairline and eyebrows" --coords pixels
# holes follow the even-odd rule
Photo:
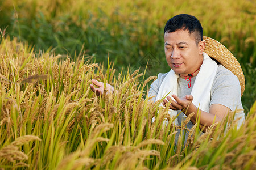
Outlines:
[[[170,44],[172,43],[180,43],[180,42],[187,42],[187,44],[194,42],[195,43],[195,37],[193,36],[193,33],[189,33],[187,30],[177,30],[175,32],[166,32],[164,33],[164,42]]]

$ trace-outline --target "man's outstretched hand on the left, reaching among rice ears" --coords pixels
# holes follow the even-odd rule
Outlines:
[[[101,96],[104,94],[104,83],[103,82],[98,82],[95,79],[92,79],[92,83],[96,86],[98,86],[98,88],[94,87],[93,84],[90,84],[90,88],[92,89],[93,92],[96,93],[97,96]],[[114,92],[114,87],[111,86],[110,84],[106,83],[106,94],[109,93],[113,93]]]

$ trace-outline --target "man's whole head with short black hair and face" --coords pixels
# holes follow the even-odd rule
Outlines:
[[[194,16],[174,16],[164,28],[164,53],[168,65],[182,76],[196,75],[203,63],[203,29]]]

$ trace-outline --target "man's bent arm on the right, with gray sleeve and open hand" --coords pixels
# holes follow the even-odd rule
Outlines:
[[[216,78],[213,82],[209,113],[201,110],[199,111],[201,112],[201,130],[205,131],[208,126],[212,125],[215,116],[216,118],[214,122],[221,122],[228,115],[228,112],[236,111],[238,104],[240,104],[238,109],[242,108],[240,89],[238,78],[231,71],[225,69],[224,66],[219,65]],[[192,112],[197,113],[198,108],[192,103],[192,95],[186,95],[181,97],[181,99],[175,95],[173,95],[173,97],[176,101],[172,102],[170,105],[171,109],[182,110],[188,107],[187,115]],[[167,97],[167,99],[170,100],[171,97]],[[163,101],[164,103],[167,103],[167,100]],[[194,114],[191,118],[193,124],[195,124],[197,116],[197,114]],[[204,125],[205,129],[202,128]]]

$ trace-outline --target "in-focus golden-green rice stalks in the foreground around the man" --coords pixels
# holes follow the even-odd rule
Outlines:
[[[101,68],[92,59],[40,53],[3,37],[0,45],[0,168],[255,169],[256,102],[236,129],[233,113],[201,135],[199,124],[171,124],[168,110],[148,99],[139,70]],[[124,73],[125,72],[125,73]],[[112,84],[96,96],[90,80]],[[152,122],[152,117],[155,121]],[[169,124],[163,124],[164,120]],[[185,143],[181,130],[189,133]]]

